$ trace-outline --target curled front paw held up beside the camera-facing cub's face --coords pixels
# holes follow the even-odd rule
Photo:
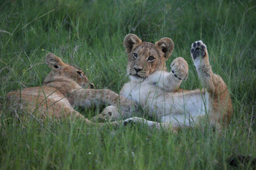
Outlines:
[[[179,80],[188,79],[188,63],[182,57],[176,58],[171,62],[171,72]]]

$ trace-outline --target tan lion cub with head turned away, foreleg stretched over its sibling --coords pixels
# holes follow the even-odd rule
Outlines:
[[[122,112],[130,111],[134,106],[132,101],[120,97],[107,89],[93,89],[84,72],[59,57],[48,53],[46,64],[52,69],[43,81],[43,86],[29,87],[11,91],[7,94],[10,108],[36,118],[82,118],[90,123],[83,115],[74,110],[74,106],[89,108],[97,105],[112,105],[119,107]],[[132,110],[131,110],[132,111]]]

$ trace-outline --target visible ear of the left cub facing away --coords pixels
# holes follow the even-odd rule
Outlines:
[[[60,57],[55,56],[53,53],[49,52],[46,55],[46,64],[51,69],[62,69],[66,64],[60,59]]]

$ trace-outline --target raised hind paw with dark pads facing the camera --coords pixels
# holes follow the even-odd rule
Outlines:
[[[206,45],[203,44],[203,41],[198,40],[196,42],[193,42],[191,45],[191,57],[193,57],[193,60],[196,60],[197,57],[205,57],[207,54]]]

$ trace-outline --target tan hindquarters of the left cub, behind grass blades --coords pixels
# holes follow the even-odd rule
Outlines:
[[[65,108],[72,108],[69,101],[57,89],[49,86],[31,87],[7,94],[7,102],[15,113],[32,113],[36,117],[60,118]]]

